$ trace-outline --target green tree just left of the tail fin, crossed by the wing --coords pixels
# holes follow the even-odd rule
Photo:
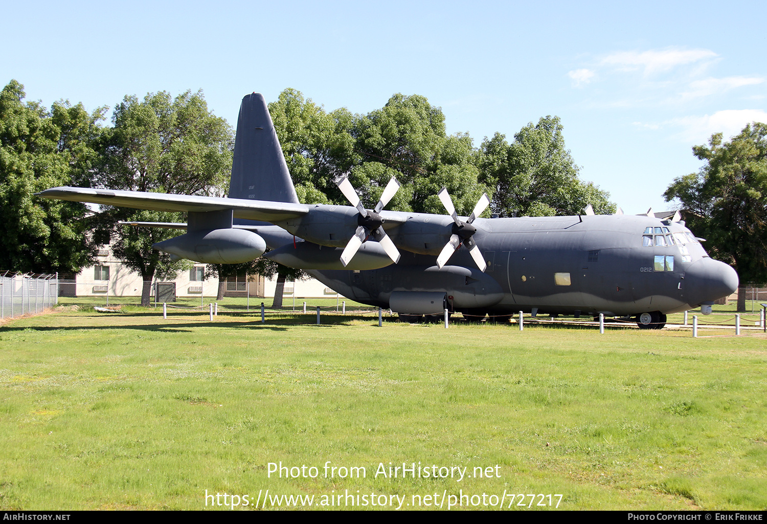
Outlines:
[[[130,191],[206,195],[229,178],[234,136],[228,123],[209,112],[202,92],[150,93],[139,101],[125,97],[114,109],[114,126],[101,141],[103,162],[97,183]],[[111,223],[123,221],[183,221],[178,214],[110,208]],[[113,249],[143,278],[141,304],[150,303],[152,280],[184,267],[152,244],[174,237],[168,229],[113,229]]]

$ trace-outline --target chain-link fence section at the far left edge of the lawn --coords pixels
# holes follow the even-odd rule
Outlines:
[[[58,303],[58,274],[0,271],[0,319],[40,313]]]

